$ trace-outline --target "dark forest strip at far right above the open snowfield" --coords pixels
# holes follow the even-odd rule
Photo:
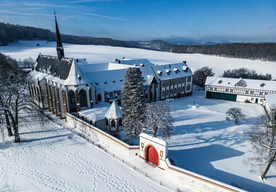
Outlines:
[[[226,43],[215,45],[175,45],[172,53],[201,53],[228,58],[276,61],[276,43]]]

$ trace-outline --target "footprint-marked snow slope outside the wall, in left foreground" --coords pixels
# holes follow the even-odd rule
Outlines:
[[[0,191],[171,191],[63,127],[49,122],[41,128],[28,119],[20,124],[20,143],[14,137],[0,142]],[[125,161],[164,178],[140,158]]]

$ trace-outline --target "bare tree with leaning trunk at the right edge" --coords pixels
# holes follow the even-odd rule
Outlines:
[[[260,171],[262,171],[262,166],[266,166],[265,171],[261,175],[263,179],[276,157],[275,110],[269,114],[262,114],[257,118],[257,123],[252,126],[252,130],[248,133],[248,140],[253,145],[255,156],[250,157],[247,161],[244,160],[244,163],[251,164],[253,167],[259,165]],[[250,171],[253,172],[254,169]]]

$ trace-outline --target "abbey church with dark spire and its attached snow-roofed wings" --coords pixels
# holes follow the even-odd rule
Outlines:
[[[113,63],[88,64],[86,59],[65,57],[56,16],[55,27],[57,56],[38,55],[29,73],[37,84],[29,87],[29,93],[40,94],[38,103],[41,107],[60,119],[65,118],[66,113],[79,114],[99,102],[112,104],[115,101],[116,105],[121,105],[124,75],[129,67],[139,67],[142,71],[146,102],[192,94],[193,73],[186,61],[157,65],[147,59],[123,57],[122,60],[115,59]],[[120,118],[111,119],[110,122],[112,120],[120,129]]]

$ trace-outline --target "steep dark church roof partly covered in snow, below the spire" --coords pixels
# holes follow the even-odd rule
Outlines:
[[[39,55],[30,76],[43,80],[44,78],[63,85],[82,85],[91,81],[84,76],[76,59],[63,57],[58,61],[57,56]]]

